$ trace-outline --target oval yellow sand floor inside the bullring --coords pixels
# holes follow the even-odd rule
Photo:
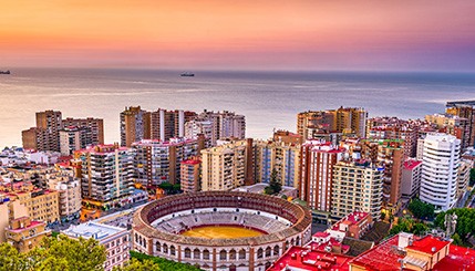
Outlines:
[[[258,237],[264,233],[254,230],[246,229],[239,226],[205,226],[187,230],[182,233],[186,237],[200,237],[208,239],[237,239],[247,237]]]

